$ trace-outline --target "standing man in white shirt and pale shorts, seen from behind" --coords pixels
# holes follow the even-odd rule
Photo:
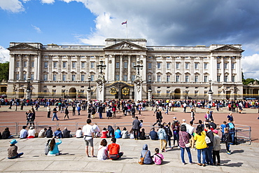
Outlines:
[[[92,153],[92,158],[96,157],[94,155],[94,129],[92,128],[92,120],[91,119],[87,119],[86,120],[87,125],[83,126],[83,139],[85,140],[85,153],[87,155],[87,157],[90,157],[90,155],[88,154],[88,146],[90,145],[91,147],[91,153]]]

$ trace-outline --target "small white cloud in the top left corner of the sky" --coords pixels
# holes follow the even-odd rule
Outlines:
[[[10,11],[12,13],[25,11],[25,8],[23,8],[22,6],[22,2],[18,0],[0,0],[0,8],[5,11]]]

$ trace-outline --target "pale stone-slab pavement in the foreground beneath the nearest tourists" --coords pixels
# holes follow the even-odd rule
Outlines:
[[[230,146],[232,154],[225,153],[225,145],[221,148],[221,166],[200,167],[199,165],[182,165],[179,148],[167,149],[162,153],[165,157],[162,165],[139,165],[140,151],[144,144],[153,154],[159,148],[159,141],[118,139],[120,151],[124,155],[119,160],[97,160],[87,158],[83,139],[62,139],[59,150],[62,155],[47,156],[44,146],[48,139],[17,139],[18,152],[25,153],[21,158],[9,160],[7,149],[10,140],[0,140],[0,172],[258,172],[259,150],[258,144],[251,146],[240,144]],[[94,155],[101,138],[94,138]],[[111,138],[107,139],[109,144]],[[197,151],[191,151],[193,161],[197,162]],[[185,160],[188,162],[187,153]]]

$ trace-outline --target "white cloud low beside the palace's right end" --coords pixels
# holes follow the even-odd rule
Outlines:
[[[259,79],[259,54],[253,54],[241,59],[244,78]]]

